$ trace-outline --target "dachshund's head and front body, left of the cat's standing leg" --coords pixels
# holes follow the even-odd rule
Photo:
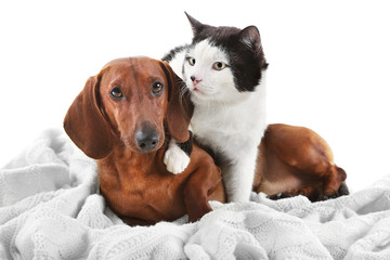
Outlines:
[[[208,200],[225,202],[221,170],[198,146],[182,174],[162,162],[166,130],[179,142],[190,140],[178,80],[166,62],[115,60],[88,79],[66,114],[65,131],[98,160],[101,192],[128,224],[185,213],[196,221],[211,210]]]

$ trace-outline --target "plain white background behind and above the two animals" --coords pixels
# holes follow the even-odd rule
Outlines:
[[[390,174],[390,8],[386,1],[1,1],[0,167],[64,115],[110,60],[161,57],[203,23],[258,26],[270,122],[332,146],[352,191]]]

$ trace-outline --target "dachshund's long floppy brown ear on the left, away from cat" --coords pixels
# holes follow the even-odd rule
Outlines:
[[[70,105],[64,129],[84,154],[94,159],[106,157],[113,148],[109,126],[99,107],[99,78],[90,77]]]

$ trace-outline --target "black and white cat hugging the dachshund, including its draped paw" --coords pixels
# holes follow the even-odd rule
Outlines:
[[[194,32],[191,46],[162,60],[186,83],[194,104],[190,129],[210,148],[220,167],[229,202],[249,199],[258,145],[265,123],[265,69],[257,27],[213,27],[187,15]],[[190,157],[170,141],[165,164],[182,172]]]

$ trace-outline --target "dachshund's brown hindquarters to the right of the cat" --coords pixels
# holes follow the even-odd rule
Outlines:
[[[313,130],[270,125],[259,145],[253,191],[270,198],[304,195],[312,202],[349,194],[344,170]]]

